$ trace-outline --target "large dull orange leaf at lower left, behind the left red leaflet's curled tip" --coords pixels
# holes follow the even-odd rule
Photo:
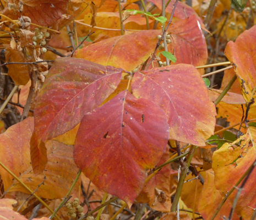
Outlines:
[[[73,146],[48,141],[46,147],[49,163],[44,174],[35,175],[32,172],[29,155],[29,141],[33,128],[34,118],[29,117],[1,134],[0,161],[33,191],[42,183],[45,174],[45,183],[36,191],[36,195],[47,199],[61,198],[67,194],[78,172],[73,160]],[[0,171],[5,189],[11,186],[9,192],[21,191],[30,194],[19,183],[16,182],[12,185],[14,183],[12,175],[2,167],[0,167]],[[52,188],[52,185],[61,190]]]

